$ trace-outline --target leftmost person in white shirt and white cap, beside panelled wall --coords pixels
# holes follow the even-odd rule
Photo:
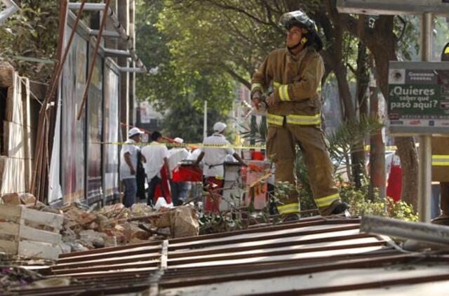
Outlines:
[[[120,180],[123,182],[125,192],[123,194],[123,204],[126,208],[133,206],[135,203],[135,194],[138,191],[138,185],[135,181],[135,173],[138,167],[138,152],[140,148],[135,145],[140,142],[142,130],[139,128],[131,128],[128,132],[128,140],[121,148],[120,161]],[[145,156],[142,157],[145,162]]]

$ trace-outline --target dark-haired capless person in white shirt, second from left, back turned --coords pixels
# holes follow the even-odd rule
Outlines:
[[[142,149],[142,155],[147,159],[145,163],[145,173],[147,173],[148,184],[148,205],[156,203],[155,198],[163,196],[167,203],[171,203],[170,188],[168,186],[168,149],[163,144],[163,137],[158,131],[151,135],[152,144]],[[157,194],[158,196],[155,196]],[[159,195],[161,194],[161,195]]]

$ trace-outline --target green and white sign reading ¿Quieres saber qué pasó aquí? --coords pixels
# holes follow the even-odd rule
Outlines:
[[[449,62],[390,62],[389,131],[449,134]]]

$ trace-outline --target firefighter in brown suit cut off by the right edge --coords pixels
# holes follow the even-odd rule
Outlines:
[[[441,61],[449,62],[449,43],[443,49]],[[441,215],[432,220],[432,223],[449,226],[449,135],[432,138],[432,181],[440,182],[441,188]]]

